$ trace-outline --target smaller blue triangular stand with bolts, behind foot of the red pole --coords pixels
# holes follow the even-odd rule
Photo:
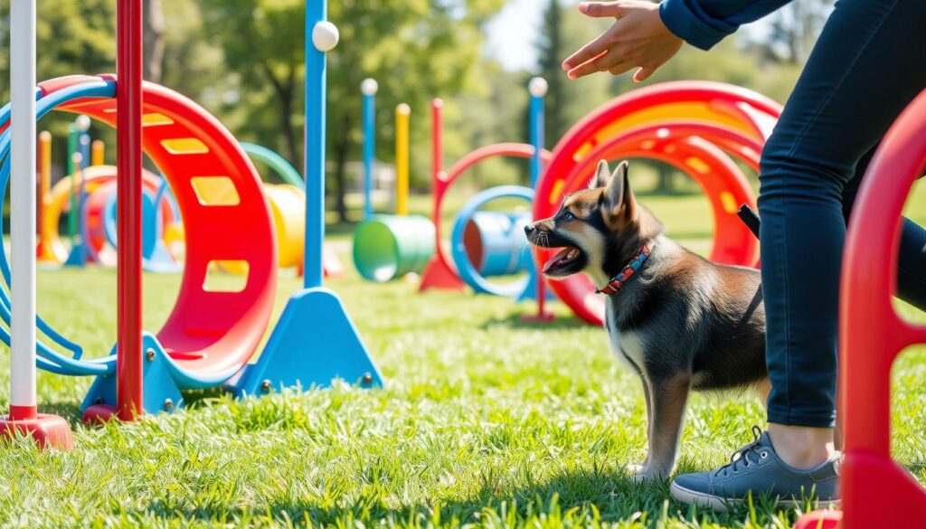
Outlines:
[[[142,384],[144,384],[144,411],[173,411],[183,405],[183,396],[170,374],[168,354],[157,338],[150,333],[142,334],[142,351],[144,366]],[[113,346],[112,354],[116,354]],[[106,404],[115,407],[116,373],[102,374],[96,377],[90,386],[87,397],[83,398],[81,413],[94,404]]]

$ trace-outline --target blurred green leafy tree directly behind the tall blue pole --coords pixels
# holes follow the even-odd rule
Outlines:
[[[503,0],[356,0],[334,2],[329,19],[341,44],[328,54],[328,149],[332,160],[338,216],[346,218],[346,162],[360,140],[360,82],[380,82],[381,132],[390,132],[394,107],[413,108],[412,140],[422,141],[428,120],[427,101],[435,94],[456,93],[469,69],[480,60],[485,19]],[[298,163],[303,126],[302,103],[304,9],[300,0],[204,0],[204,28],[224,49],[224,60],[247,94],[253,110],[244,128],[282,134],[285,156]],[[268,96],[267,86],[271,96]],[[274,106],[269,119],[270,106]],[[420,117],[420,118],[419,118]],[[274,129],[275,126],[275,129]],[[266,141],[264,142],[266,143]],[[377,142],[379,155],[392,158],[392,144]],[[413,166],[413,168],[416,166]]]

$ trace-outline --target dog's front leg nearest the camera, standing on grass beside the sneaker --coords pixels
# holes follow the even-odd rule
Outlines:
[[[665,479],[675,467],[679,438],[682,435],[685,403],[691,390],[691,374],[679,373],[669,378],[650,379],[649,453],[642,479]]]

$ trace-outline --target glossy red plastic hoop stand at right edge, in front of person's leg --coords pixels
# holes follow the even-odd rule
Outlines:
[[[924,169],[926,92],[884,136],[845,240],[839,307],[843,511],[807,514],[795,529],[915,527],[926,520],[926,490],[891,458],[891,366],[907,346],[926,343],[926,327],[901,320],[891,302],[900,215]]]

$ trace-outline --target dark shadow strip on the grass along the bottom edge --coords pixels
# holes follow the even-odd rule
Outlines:
[[[505,479],[505,475],[483,474],[481,487],[468,498],[432,498],[427,502],[400,507],[387,504],[391,495],[381,484],[369,483],[343,488],[341,494],[344,496],[353,496],[353,491],[358,489],[362,491],[359,498],[352,498],[349,503],[331,497],[319,501],[287,498],[268,505],[244,508],[229,509],[206,501],[192,509],[177,509],[158,500],[134,514],[170,521],[182,517],[186,521],[245,524],[256,521],[268,523],[268,519],[272,519],[277,523],[310,521],[312,525],[337,527],[356,526],[357,522],[369,526],[381,521],[418,527],[431,523],[438,525],[438,519],[440,524],[449,526],[469,523],[487,526],[545,525],[541,523],[545,520],[566,526],[636,521],[650,527],[666,519],[723,525],[741,525],[743,521],[751,520],[765,526],[781,521],[782,510],[776,502],[767,498],[757,499],[753,511],[745,505],[723,513],[695,510],[670,498],[669,482],[638,484],[627,474],[613,470],[562,472],[537,482],[529,480],[528,485],[513,491],[504,490]],[[786,517],[794,522],[797,517],[795,512],[787,512]],[[119,513],[126,512],[119,510]]]

